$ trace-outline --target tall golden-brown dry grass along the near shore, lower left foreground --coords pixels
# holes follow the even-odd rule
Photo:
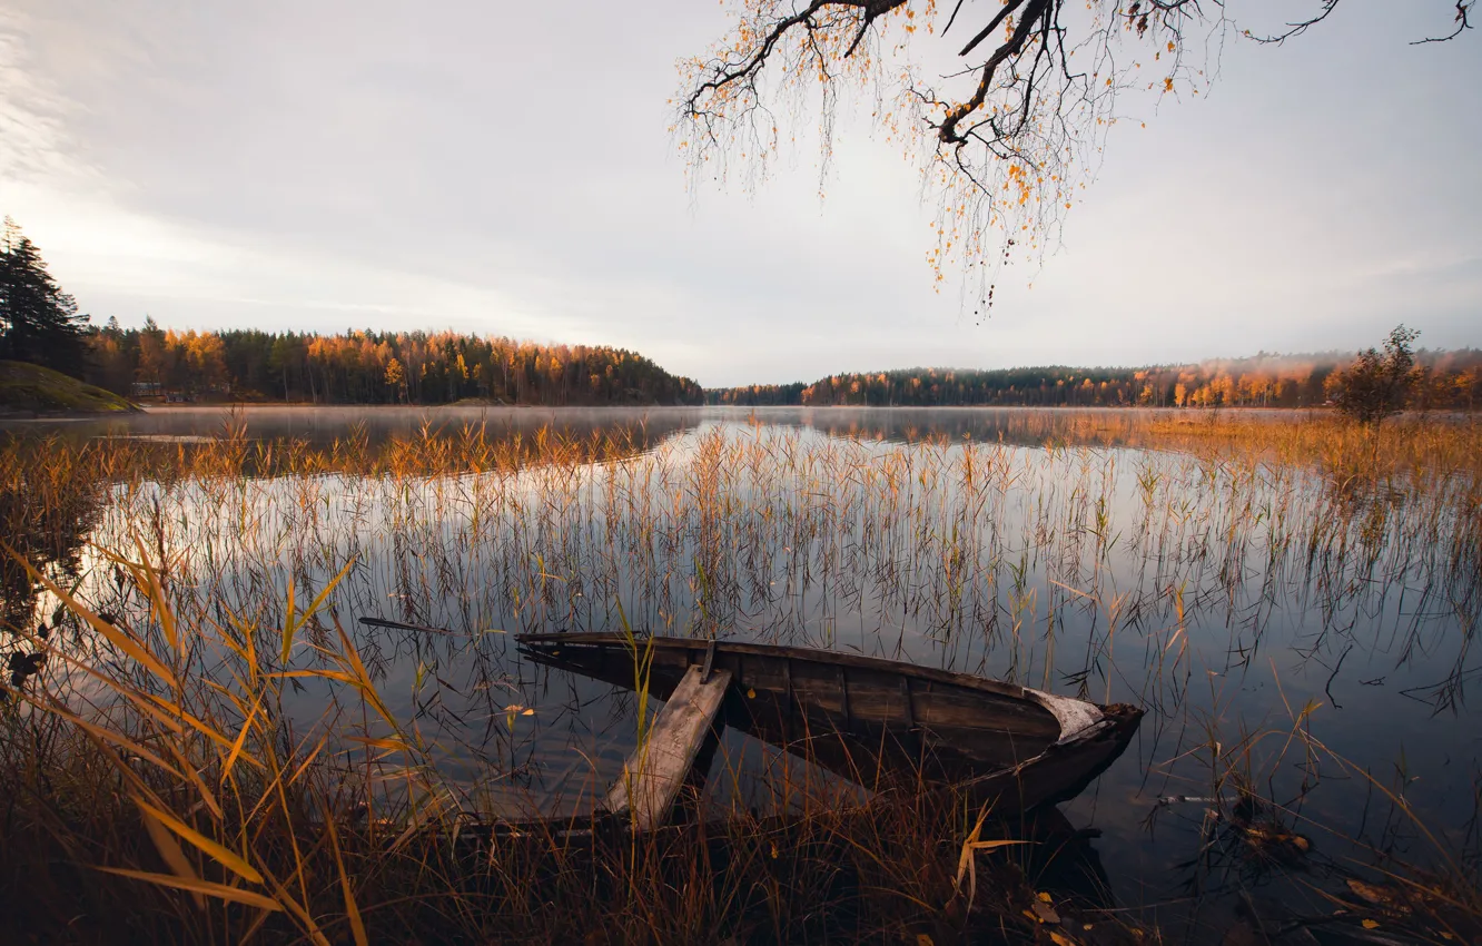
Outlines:
[[[640,836],[591,814],[505,830],[498,811],[470,810],[443,783],[338,621],[328,642],[307,645],[319,666],[296,667],[298,638],[333,584],[290,601],[280,627],[237,614],[181,621],[142,546],[110,563],[148,621],[98,614],[37,575],[64,605],[44,635],[22,635],[47,672],[13,688],[0,713],[0,879],[24,891],[6,907],[15,933],[1034,942],[1031,860],[990,860],[1011,842],[986,838],[983,813],[950,792],[842,805],[815,786],[787,818],[738,807]],[[93,635],[105,660],[83,644]],[[307,679],[332,691],[313,727],[283,710],[286,688]]]

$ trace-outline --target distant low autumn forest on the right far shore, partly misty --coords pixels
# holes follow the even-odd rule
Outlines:
[[[711,388],[707,403],[738,406],[1154,406],[1304,408],[1334,400],[1355,356],[1257,354],[1150,368],[911,368],[828,375],[812,384]],[[1482,350],[1417,351],[1409,406],[1482,406]]]

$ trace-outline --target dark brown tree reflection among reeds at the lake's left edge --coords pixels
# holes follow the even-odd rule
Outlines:
[[[0,556],[0,623],[7,629],[36,623],[37,586],[31,568],[76,577],[82,547],[102,512],[102,480],[74,476],[67,451],[50,440],[0,457],[0,535],[15,555]]]

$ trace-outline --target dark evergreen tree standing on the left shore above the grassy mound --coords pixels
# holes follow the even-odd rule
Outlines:
[[[40,251],[9,216],[0,237],[0,359],[82,375],[86,347],[77,302],[62,292]]]

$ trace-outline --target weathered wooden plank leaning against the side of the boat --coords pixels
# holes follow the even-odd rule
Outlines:
[[[685,672],[668,703],[654,718],[648,738],[622,764],[622,777],[608,792],[608,811],[631,811],[637,830],[664,823],[716,722],[729,685],[729,670],[714,670],[704,682],[698,666]]]

